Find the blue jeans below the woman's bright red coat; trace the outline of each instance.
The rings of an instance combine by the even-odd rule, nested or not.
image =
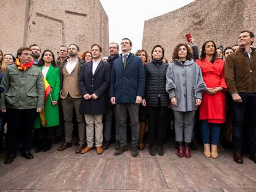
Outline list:
[[[210,131],[211,131],[211,144],[218,145],[220,138],[220,125],[218,123],[208,123],[207,120],[202,120],[201,132],[203,144],[209,144]]]

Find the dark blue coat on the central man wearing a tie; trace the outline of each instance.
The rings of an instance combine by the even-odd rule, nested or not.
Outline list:
[[[115,97],[116,103],[135,103],[136,96],[144,96],[145,69],[140,57],[130,53],[126,69],[121,57],[116,59],[111,70],[109,97]]]

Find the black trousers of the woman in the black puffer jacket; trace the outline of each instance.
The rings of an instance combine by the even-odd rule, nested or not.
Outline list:
[[[147,112],[149,145],[152,147],[156,138],[158,146],[163,146],[167,107],[147,107]]]

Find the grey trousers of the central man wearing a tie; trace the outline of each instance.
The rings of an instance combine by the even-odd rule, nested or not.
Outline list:
[[[130,115],[130,125],[132,128],[132,146],[138,146],[139,141],[139,104],[135,103],[124,103],[124,104],[116,104],[117,110],[117,118],[118,118],[118,132],[119,132],[119,143],[120,146],[126,146],[127,144],[127,110]]]

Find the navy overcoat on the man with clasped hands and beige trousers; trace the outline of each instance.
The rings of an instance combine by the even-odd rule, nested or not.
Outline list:
[[[79,75],[79,88],[82,94],[80,112],[83,114],[106,114],[108,110],[108,90],[110,83],[110,65],[100,61],[92,75],[92,61],[83,65]],[[95,93],[97,99],[85,99],[85,94]]]

